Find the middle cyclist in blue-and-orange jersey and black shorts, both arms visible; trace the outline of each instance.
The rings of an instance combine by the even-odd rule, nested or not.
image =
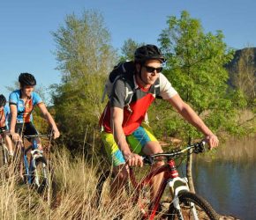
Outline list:
[[[10,134],[12,140],[19,142],[22,135],[38,135],[33,124],[32,111],[34,106],[39,107],[41,114],[49,122],[53,131],[53,137],[56,139],[60,136],[60,133],[54,119],[42,102],[41,97],[38,93],[34,92],[34,86],[36,85],[34,76],[30,73],[21,73],[19,75],[19,84],[20,89],[11,92],[9,97],[9,105],[11,108]],[[39,144],[39,148],[41,148],[40,139],[37,138],[36,141]]]

